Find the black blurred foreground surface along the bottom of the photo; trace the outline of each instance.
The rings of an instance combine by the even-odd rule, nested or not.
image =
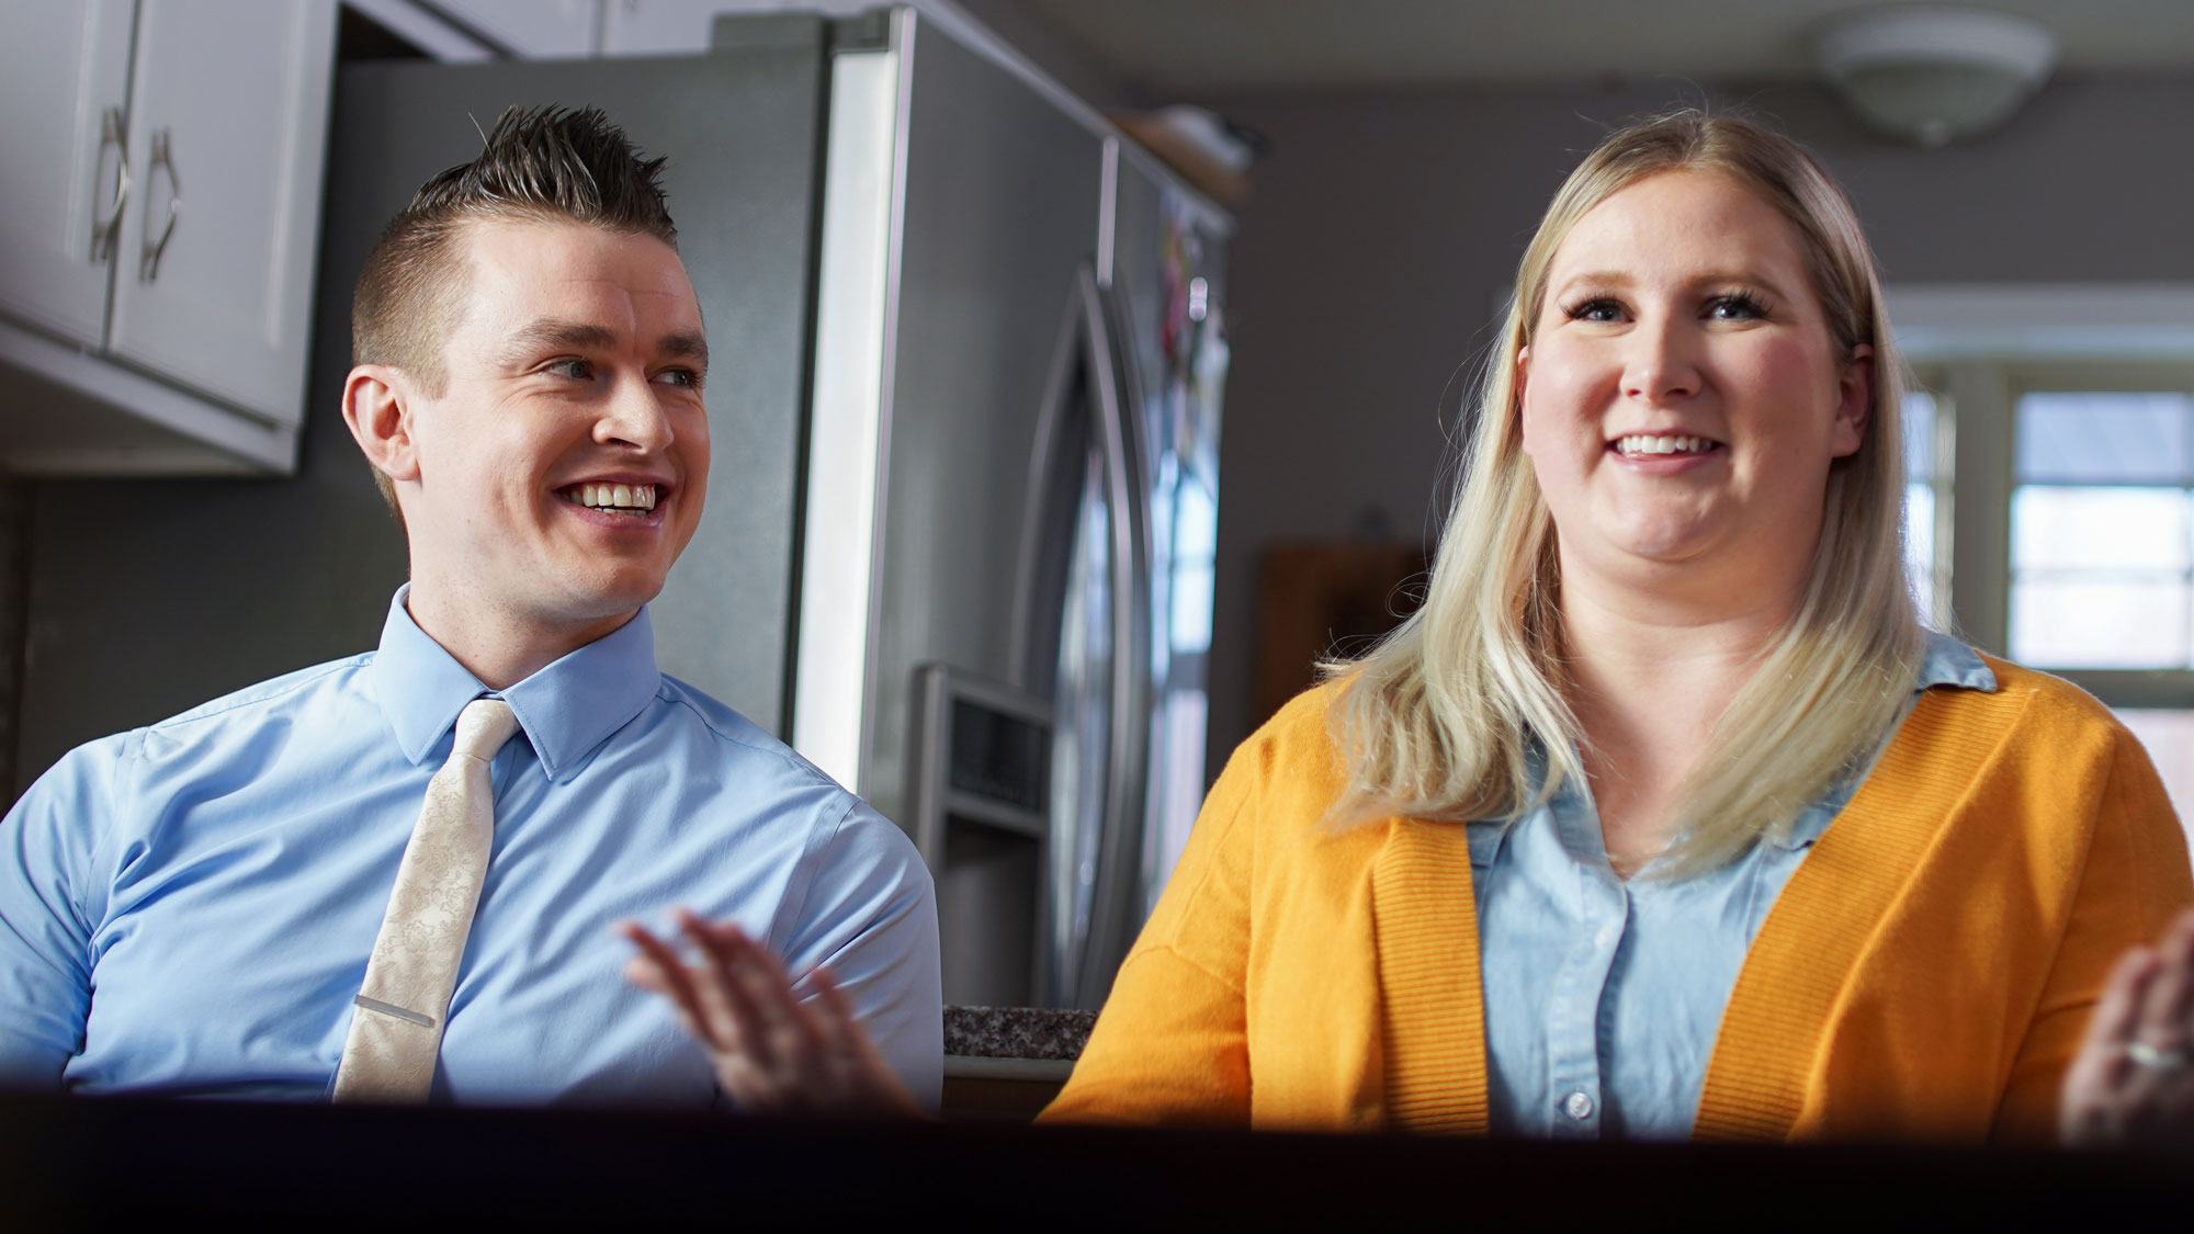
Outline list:
[[[2194,1225],[2194,1157],[0,1098],[0,1227]]]

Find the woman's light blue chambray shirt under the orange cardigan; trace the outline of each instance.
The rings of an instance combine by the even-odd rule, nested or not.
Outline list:
[[[1931,630],[1913,698],[1931,685],[1994,689],[1997,676]],[[1832,784],[1788,839],[1681,883],[1615,876],[1586,784],[1516,819],[1470,823],[1494,1131],[1687,1137],[1744,953],[1863,779]]]

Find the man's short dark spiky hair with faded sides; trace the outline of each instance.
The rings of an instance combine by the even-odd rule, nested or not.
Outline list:
[[[465,303],[461,233],[476,220],[577,222],[671,248],[663,160],[641,158],[597,108],[509,108],[480,156],[428,180],[384,231],[351,294],[351,362],[391,364],[441,391],[443,340]],[[395,490],[373,472],[395,509]]]

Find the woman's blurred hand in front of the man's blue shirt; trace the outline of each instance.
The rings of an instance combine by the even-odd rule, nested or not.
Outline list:
[[[827,971],[801,977],[814,990],[801,999],[783,964],[746,931],[685,909],[676,916],[693,960],[638,922],[619,922],[617,933],[638,949],[625,979],[671,1001],[742,1111],[924,1118]]]

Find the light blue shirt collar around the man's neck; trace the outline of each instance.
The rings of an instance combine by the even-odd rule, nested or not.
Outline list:
[[[511,705],[548,779],[568,779],[595,747],[647,707],[663,681],[654,626],[641,608],[632,621],[498,694],[410,619],[408,595],[404,584],[388,602],[373,696],[412,764],[426,762],[465,703],[491,694]]]

